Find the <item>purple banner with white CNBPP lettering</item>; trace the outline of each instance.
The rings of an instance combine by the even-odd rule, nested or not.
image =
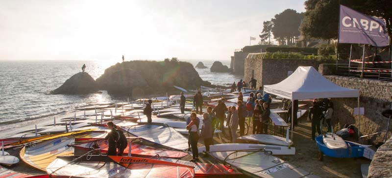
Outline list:
[[[384,20],[340,5],[339,43],[387,46],[389,37],[384,29]]]

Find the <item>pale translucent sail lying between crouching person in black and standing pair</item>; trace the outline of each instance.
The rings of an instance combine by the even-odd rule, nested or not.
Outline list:
[[[137,125],[130,127],[127,132],[168,148],[188,149],[188,139],[171,127],[152,124]]]

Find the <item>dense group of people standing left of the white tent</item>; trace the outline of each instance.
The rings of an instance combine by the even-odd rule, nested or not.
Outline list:
[[[254,87],[255,88],[255,87]],[[264,98],[265,97],[265,98]],[[181,93],[180,97],[180,108],[181,112],[185,107],[185,97]],[[198,91],[194,96],[193,104],[196,110],[191,111],[190,117],[187,118],[187,130],[189,132],[189,150],[192,150],[193,161],[198,159],[197,142],[200,137],[204,140],[206,151],[210,150],[210,145],[213,145],[213,137],[216,130],[220,130],[223,135],[228,136],[228,140],[231,143],[236,143],[238,137],[237,128],[240,127],[239,135],[242,136],[245,133],[245,122],[253,124],[253,134],[267,134],[268,125],[270,123],[270,102],[271,98],[269,94],[262,94],[259,92],[250,93],[249,98],[244,102],[243,92],[239,92],[237,107],[227,107],[225,99],[221,98],[218,100],[218,105],[213,107],[207,107],[207,112],[203,112],[201,107],[203,105],[203,99],[201,92]],[[227,117],[226,117],[227,112]],[[200,118],[197,117],[197,113],[202,114],[202,125],[200,125]],[[226,120],[226,127],[228,132],[224,129],[224,121]],[[201,132],[199,133],[199,129]]]

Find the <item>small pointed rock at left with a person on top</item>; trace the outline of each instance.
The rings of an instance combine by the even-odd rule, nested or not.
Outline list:
[[[52,94],[87,94],[98,91],[97,83],[86,72],[74,74],[59,88],[51,91]]]

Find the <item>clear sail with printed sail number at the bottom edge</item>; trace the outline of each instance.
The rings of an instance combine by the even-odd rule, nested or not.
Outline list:
[[[208,152],[209,155],[258,178],[319,178],[266,151]]]

